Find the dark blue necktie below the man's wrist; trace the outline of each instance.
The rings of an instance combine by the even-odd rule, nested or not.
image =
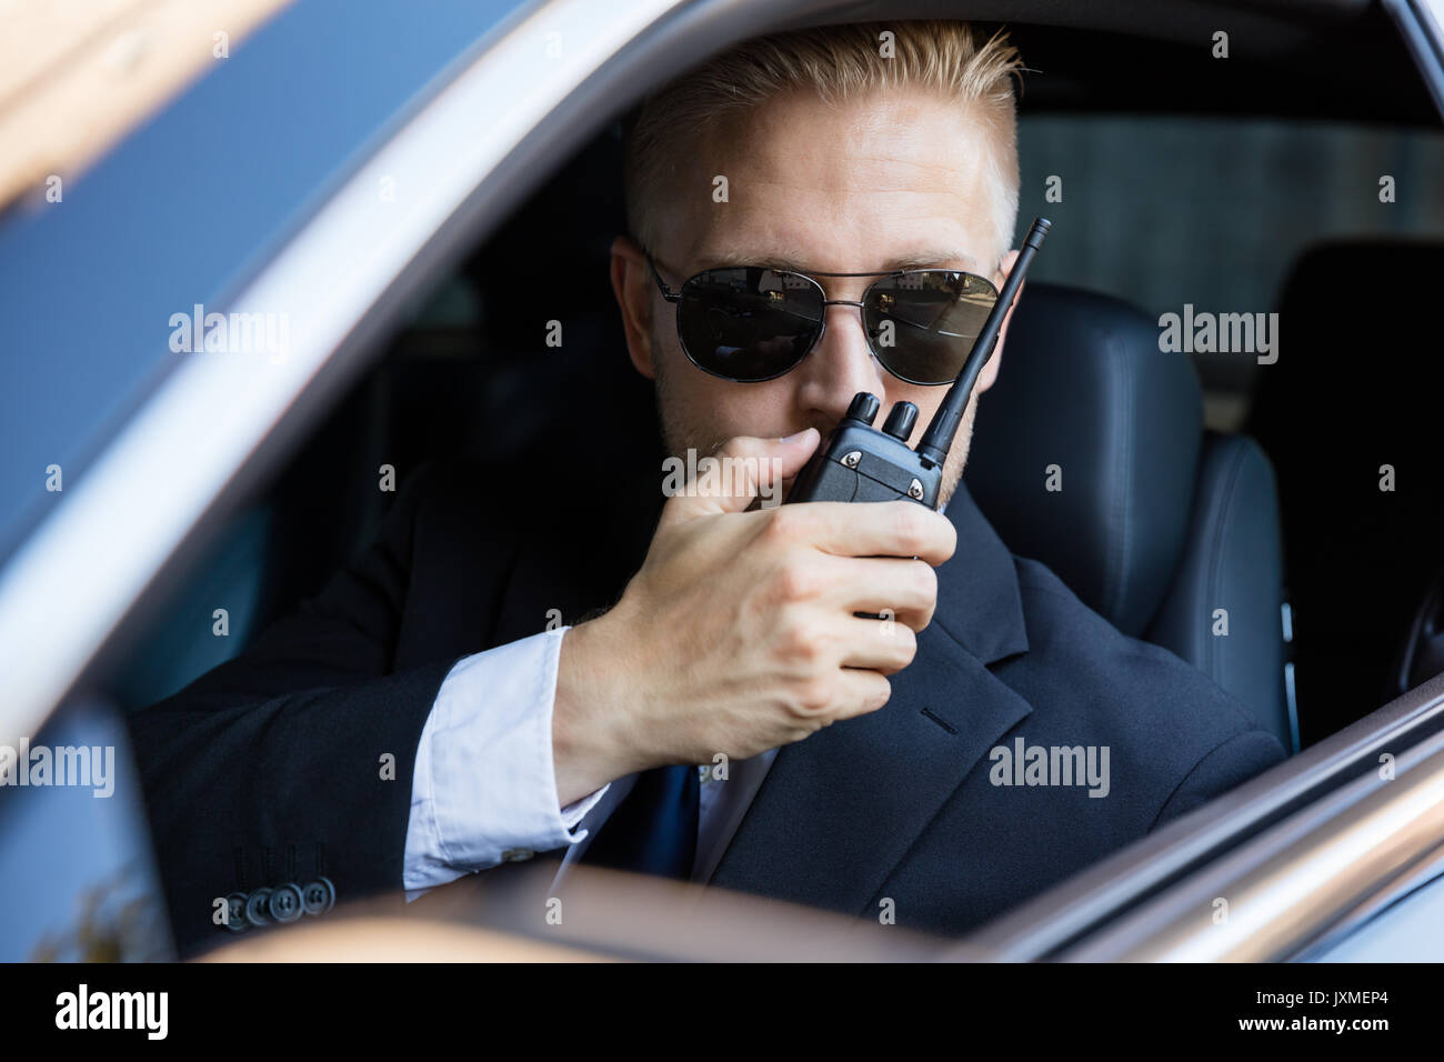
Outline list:
[[[689,880],[697,854],[700,802],[695,766],[644,770],[602,824],[582,863]]]

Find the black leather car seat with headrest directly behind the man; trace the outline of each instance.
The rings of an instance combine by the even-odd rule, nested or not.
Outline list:
[[[1274,471],[1203,428],[1197,374],[1118,299],[1024,288],[963,478],[1012,552],[1160,644],[1298,748]]]

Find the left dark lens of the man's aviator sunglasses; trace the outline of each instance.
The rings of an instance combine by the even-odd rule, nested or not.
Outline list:
[[[682,286],[677,331],[700,368],[739,383],[797,366],[822,332],[822,290],[775,269],[709,269]]]

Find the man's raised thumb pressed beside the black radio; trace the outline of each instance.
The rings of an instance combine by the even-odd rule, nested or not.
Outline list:
[[[671,497],[661,513],[661,523],[674,523],[713,513],[741,513],[754,500],[781,504],[783,480],[796,475],[820,435],[816,428],[784,439],[758,439],[738,435],[716,454],[697,458],[695,470],[683,470],[682,458],[667,458],[663,491]],[[686,471],[690,478],[683,480]]]

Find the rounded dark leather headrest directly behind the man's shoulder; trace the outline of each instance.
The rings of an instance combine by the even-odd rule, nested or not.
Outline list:
[[[1138,637],[1188,529],[1203,397],[1186,354],[1118,299],[1030,282],[963,480],[1008,548]]]

